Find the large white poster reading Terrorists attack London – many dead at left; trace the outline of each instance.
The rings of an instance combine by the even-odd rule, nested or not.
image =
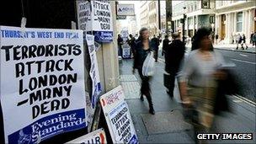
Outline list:
[[[0,26],[0,47],[6,143],[87,126],[82,30]]]

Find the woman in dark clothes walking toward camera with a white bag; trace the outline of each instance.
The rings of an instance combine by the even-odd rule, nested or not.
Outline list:
[[[149,81],[151,77],[146,77],[142,75],[142,67],[143,63],[147,57],[147,55],[152,51],[152,43],[149,40],[149,32],[147,28],[141,28],[140,30],[140,36],[138,41],[136,42],[136,53],[134,58],[134,64],[133,64],[133,70],[132,72],[135,72],[135,69],[138,70],[139,75],[141,77],[141,100],[143,101],[143,95],[146,96],[148,104],[149,104],[149,112],[154,115],[155,110],[153,108],[152,104],[152,96],[151,96],[151,90]]]

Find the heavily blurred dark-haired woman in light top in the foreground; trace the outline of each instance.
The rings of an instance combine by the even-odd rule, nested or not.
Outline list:
[[[213,50],[210,34],[209,29],[198,29],[195,50],[189,53],[179,78],[181,99],[184,108],[192,109],[189,122],[194,125],[195,132],[210,130],[214,118],[216,80],[225,77],[225,73],[218,69],[224,59],[221,53]]]

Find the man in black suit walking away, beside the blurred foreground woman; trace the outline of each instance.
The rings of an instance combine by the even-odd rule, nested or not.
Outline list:
[[[179,71],[179,65],[184,57],[185,45],[180,40],[178,33],[173,34],[173,41],[165,51],[165,71],[169,73],[169,86],[167,93],[173,97],[175,77]]]

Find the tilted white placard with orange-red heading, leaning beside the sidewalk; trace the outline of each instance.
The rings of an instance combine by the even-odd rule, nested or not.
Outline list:
[[[114,143],[138,143],[136,131],[131,120],[125,93],[121,86],[100,97],[109,132]]]

